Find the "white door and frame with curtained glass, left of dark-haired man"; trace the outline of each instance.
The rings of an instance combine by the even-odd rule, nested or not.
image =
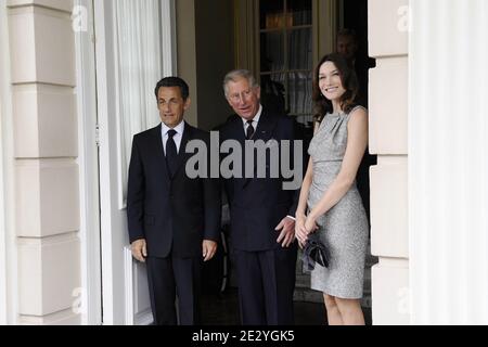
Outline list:
[[[125,196],[132,136],[159,123],[154,86],[172,74],[174,1],[81,4],[93,24],[77,47],[80,146],[87,159],[81,181],[90,190],[82,192],[85,323],[150,324],[145,268],[131,256]]]

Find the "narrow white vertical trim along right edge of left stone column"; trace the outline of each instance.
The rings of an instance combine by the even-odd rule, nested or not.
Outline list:
[[[81,323],[102,323],[102,265],[100,260],[99,168],[95,138],[97,86],[94,62],[93,2],[75,0],[87,9],[88,31],[75,33],[76,97],[78,115],[80,240],[81,240]]]

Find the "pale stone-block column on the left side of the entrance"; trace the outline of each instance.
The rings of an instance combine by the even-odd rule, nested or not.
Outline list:
[[[9,0],[18,323],[76,324],[75,37],[68,0]]]

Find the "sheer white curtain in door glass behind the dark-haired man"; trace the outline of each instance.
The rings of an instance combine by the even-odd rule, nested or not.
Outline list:
[[[159,124],[154,88],[162,78],[158,0],[114,1],[120,172],[124,205],[133,134]]]

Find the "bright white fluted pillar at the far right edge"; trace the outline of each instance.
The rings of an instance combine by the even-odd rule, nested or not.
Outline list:
[[[488,324],[488,1],[411,9],[411,322]]]

